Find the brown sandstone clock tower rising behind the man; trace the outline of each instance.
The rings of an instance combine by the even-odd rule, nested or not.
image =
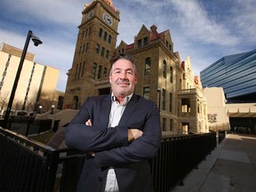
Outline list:
[[[78,109],[88,96],[110,92],[108,74],[116,51],[119,13],[112,0],[85,4],[63,109]]]

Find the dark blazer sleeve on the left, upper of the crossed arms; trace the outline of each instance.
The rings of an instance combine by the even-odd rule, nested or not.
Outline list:
[[[84,152],[108,150],[128,146],[127,129],[120,127],[100,127],[98,119],[100,116],[100,100],[87,98],[77,115],[68,124],[65,134],[65,142],[68,147],[77,148]],[[93,119],[92,126],[85,125],[88,119]],[[95,124],[95,125],[94,125]]]

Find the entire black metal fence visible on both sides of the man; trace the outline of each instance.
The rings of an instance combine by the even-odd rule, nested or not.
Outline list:
[[[216,133],[163,138],[149,163],[156,191],[182,184],[216,147]],[[0,128],[0,191],[75,191],[84,156],[54,149]]]

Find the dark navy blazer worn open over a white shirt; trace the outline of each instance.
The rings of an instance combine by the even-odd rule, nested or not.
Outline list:
[[[77,190],[103,191],[112,166],[120,192],[153,191],[148,159],[156,156],[161,139],[156,103],[133,94],[119,124],[108,128],[110,109],[111,95],[89,97],[67,127],[66,144],[86,152]],[[92,126],[85,125],[88,119]],[[129,128],[140,129],[142,137],[129,143]]]

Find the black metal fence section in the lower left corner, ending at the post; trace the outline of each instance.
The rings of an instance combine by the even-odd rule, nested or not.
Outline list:
[[[0,128],[0,191],[53,191],[59,154]]]

